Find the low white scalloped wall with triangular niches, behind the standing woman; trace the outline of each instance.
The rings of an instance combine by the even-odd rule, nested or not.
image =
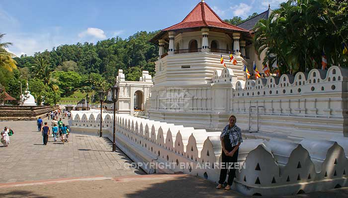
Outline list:
[[[73,133],[97,134],[93,113],[73,112]],[[111,140],[112,116],[105,115],[103,134]],[[171,163],[169,169],[142,167],[148,173],[180,171],[213,182],[219,179],[219,132],[116,115],[116,145],[135,162]],[[342,145],[342,146],[341,146]],[[335,141],[248,140],[241,144],[233,188],[245,195],[295,195],[348,186],[348,138]],[[181,163],[187,163],[187,166]],[[214,164],[215,163],[215,164]],[[175,166],[177,165],[177,166]]]

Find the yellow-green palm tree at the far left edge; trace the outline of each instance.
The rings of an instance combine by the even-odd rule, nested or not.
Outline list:
[[[5,34],[0,34],[0,41],[4,35]],[[0,43],[0,67],[3,67],[7,71],[12,71],[17,68],[17,62],[12,59],[15,55],[5,49],[10,45],[12,45],[12,43]]]

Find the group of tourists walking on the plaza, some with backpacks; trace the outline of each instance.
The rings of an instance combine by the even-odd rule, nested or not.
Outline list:
[[[44,126],[42,126],[42,123],[43,121],[41,117],[39,117],[39,119],[37,120],[38,131],[41,131],[41,135],[43,137],[43,144],[47,145],[48,137],[50,135],[51,129],[48,126],[47,122],[44,123]],[[63,123],[62,118],[60,118],[59,121],[57,121],[53,117],[51,122],[51,127],[52,127],[52,137],[54,138],[54,142],[57,142],[58,136],[60,137],[63,144],[65,142],[69,142],[68,141],[69,128]]]

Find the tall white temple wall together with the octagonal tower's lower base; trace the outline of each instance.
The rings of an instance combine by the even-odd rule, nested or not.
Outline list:
[[[155,84],[150,118],[220,130],[228,116],[235,114],[244,130],[291,132],[300,137],[308,134],[313,138],[329,139],[348,136],[347,77],[347,69],[337,66],[327,71],[313,69],[295,76],[271,76],[256,81],[237,81],[234,70],[216,70],[210,85],[170,87]],[[175,102],[168,97],[168,92],[187,93],[181,97],[187,108],[164,105]]]

